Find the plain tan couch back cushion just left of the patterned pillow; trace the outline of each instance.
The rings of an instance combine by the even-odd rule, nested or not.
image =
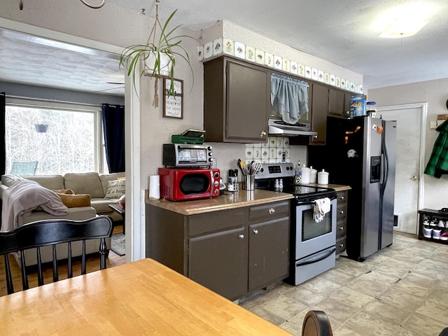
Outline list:
[[[104,191],[98,173],[67,173],[64,175],[65,189],[76,195],[89,194],[92,198],[104,198]]]

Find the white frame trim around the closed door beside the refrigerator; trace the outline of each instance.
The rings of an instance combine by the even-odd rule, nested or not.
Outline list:
[[[419,190],[417,195],[417,209],[423,208],[423,195],[424,195],[424,175],[425,170],[425,146],[426,146],[426,118],[428,115],[428,103],[413,103],[413,104],[400,104],[391,106],[381,106],[377,108],[377,113],[381,115],[381,111],[396,111],[406,109],[420,109],[420,153],[419,153]],[[400,125],[398,125],[400,127]],[[418,213],[417,213],[418,214]],[[418,221],[418,219],[417,219]],[[418,232],[418,222],[416,222],[416,232]]]

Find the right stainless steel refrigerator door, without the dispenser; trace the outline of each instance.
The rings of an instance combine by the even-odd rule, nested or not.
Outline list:
[[[381,241],[380,248],[385,248],[393,242],[393,203],[395,198],[395,158],[397,151],[397,122],[383,120],[384,125],[384,178],[381,188]]]

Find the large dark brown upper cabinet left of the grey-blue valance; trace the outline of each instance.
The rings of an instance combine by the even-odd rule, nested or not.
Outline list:
[[[204,140],[266,142],[268,87],[267,69],[226,57],[204,62]]]

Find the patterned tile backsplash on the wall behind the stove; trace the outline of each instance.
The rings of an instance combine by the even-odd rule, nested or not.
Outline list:
[[[290,162],[288,137],[269,137],[266,144],[246,144],[246,161],[261,163]]]

